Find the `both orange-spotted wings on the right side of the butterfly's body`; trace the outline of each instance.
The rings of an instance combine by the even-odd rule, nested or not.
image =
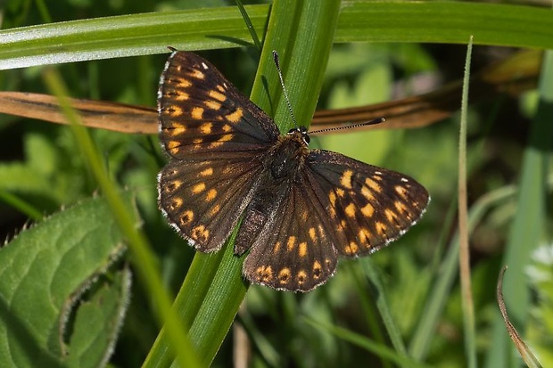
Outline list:
[[[334,274],[339,255],[372,253],[400,237],[428,200],[409,176],[311,150],[253,243],[243,274],[278,290],[312,290]]]

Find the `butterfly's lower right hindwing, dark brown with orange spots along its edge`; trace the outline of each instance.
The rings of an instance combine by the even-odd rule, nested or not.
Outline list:
[[[293,184],[271,214],[243,264],[250,282],[309,291],[334,274],[337,251],[332,229],[326,218],[313,211],[309,191],[303,183]]]

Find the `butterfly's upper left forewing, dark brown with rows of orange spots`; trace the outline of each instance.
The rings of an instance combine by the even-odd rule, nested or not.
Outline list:
[[[158,93],[161,143],[170,156],[237,156],[273,143],[278,130],[219,70],[194,53],[175,52]]]

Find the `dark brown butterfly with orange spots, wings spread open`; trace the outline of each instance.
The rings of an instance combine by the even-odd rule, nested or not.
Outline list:
[[[311,150],[305,127],[275,122],[210,62],[173,50],[158,92],[169,163],[158,203],[202,252],[221,249],[235,226],[243,276],[277,290],[326,282],[339,257],[396,240],[425,212],[425,187],[340,153]]]

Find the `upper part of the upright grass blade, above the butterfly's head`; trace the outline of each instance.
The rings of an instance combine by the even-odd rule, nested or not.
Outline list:
[[[269,34],[275,36],[266,40],[269,45],[266,45],[261,53],[260,70],[252,88],[253,101],[275,119],[281,132],[287,132],[292,128],[293,122],[276,75],[272,51],[276,50],[279,53],[295,119],[300,125],[309,125],[317,105],[328,54],[334,40],[333,25],[340,13],[340,2],[336,0],[329,1],[329,4],[316,1],[299,3],[288,2],[288,11],[271,13],[271,17],[278,17],[269,20]],[[307,12],[312,19],[294,20],[291,15],[292,9],[296,16]],[[327,22],[326,26],[322,24],[324,22]],[[263,78],[267,78],[267,86],[264,85]]]

